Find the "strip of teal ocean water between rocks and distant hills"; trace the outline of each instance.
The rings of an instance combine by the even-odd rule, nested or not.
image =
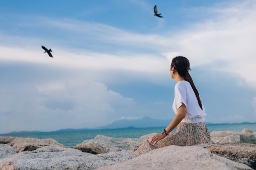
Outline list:
[[[212,131],[239,131],[244,128],[249,128],[256,132],[256,123],[254,124],[225,124],[225,125],[207,125],[209,132]],[[64,131],[64,132],[39,132],[39,133],[9,133],[0,134],[0,136],[14,137],[33,137],[38,139],[53,138],[65,146],[75,146],[82,143],[84,140],[92,139],[96,135],[105,135],[109,137],[128,137],[139,138],[149,133],[161,133],[165,127],[147,127],[147,128],[124,128],[124,129],[100,129],[100,130],[83,130],[83,131]],[[172,131],[175,132],[176,128]]]

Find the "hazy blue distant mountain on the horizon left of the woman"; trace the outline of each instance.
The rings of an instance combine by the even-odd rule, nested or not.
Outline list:
[[[139,127],[167,127],[172,120],[152,119],[143,117],[137,120],[116,120],[106,126],[96,127],[94,129],[118,129],[118,128],[139,128]]]

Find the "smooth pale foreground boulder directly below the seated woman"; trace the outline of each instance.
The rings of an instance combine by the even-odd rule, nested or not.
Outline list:
[[[105,169],[251,169],[249,166],[215,155],[198,146],[170,145],[154,149]]]

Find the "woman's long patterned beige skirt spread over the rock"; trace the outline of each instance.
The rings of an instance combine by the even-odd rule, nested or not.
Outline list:
[[[201,146],[206,147],[214,145],[211,141],[210,134],[205,122],[200,123],[184,123],[181,122],[177,126],[176,132],[170,132],[168,136],[159,140],[155,145],[150,144],[151,137],[147,138],[140,147],[133,152],[132,157],[145,154],[153,149],[177,145],[177,146]]]

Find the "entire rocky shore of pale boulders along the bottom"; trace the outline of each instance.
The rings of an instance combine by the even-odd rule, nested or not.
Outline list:
[[[0,169],[256,169],[256,133],[217,131],[217,145],[167,146],[132,158],[147,138],[97,135],[76,146],[54,139],[0,136]]]

